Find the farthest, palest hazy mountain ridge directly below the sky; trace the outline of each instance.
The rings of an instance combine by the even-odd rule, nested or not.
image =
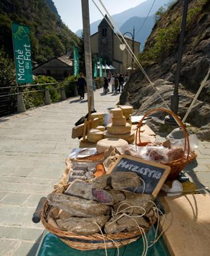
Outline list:
[[[158,11],[158,9],[161,6],[165,6],[171,3],[171,1],[172,0],[156,0],[153,8],[151,9],[151,13],[149,15],[153,15],[154,13],[156,13],[156,11]],[[127,21],[128,19],[134,16],[137,16],[137,17],[147,16],[153,2],[154,0],[146,0],[145,2],[139,4],[136,7],[123,11],[122,13],[114,14],[112,17],[116,22],[118,28],[120,28],[125,23],[125,21]],[[94,23],[91,23],[91,34],[98,32],[98,25],[100,22],[101,20],[94,21]],[[76,31],[76,34],[78,36],[81,36],[82,31],[83,31],[82,29],[79,29],[78,31]]]

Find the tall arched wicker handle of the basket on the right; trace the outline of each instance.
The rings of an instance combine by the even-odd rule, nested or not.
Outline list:
[[[181,126],[183,133],[184,133],[184,153],[183,153],[183,158],[185,153],[187,153],[187,158],[189,157],[189,136],[186,130],[186,127],[183,123],[183,121],[181,121],[181,119],[179,118],[178,115],[176,115],[175,113],[173,113],[173,111],[171,110],[166,110],[165,108],[155,108],[154,110],[149,110],[144,116],[143,118],[139,121],[139,125],[138,128],[136,130],[136,145],[137,145],[137,138],[139,136],[139,143],[141,143],[141,126],[143,125],[143,121],[144,119],[149,116],[151,113],[156,112],[156,111],[162,111],[162,112],[166,112],[169,115],[173,116],[173,118],[177,121],[177,123],[179,124],[179,126]],[[187,150],[187,151],[186,151]]]

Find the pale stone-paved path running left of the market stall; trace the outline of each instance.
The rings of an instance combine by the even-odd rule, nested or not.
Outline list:
[[[100,96],[95,108],[108,112],[119,95]],[[31,221],[37,202],[53,190],[65,168],[64,160],[78,139],[71,130],[88,113],[86,100],[70,98],[0,119],[0,255],[32,256],[43,231]]]

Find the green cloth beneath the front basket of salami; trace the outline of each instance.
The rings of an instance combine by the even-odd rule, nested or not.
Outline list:
[[[155,229],[154,227],[147,233],[148,241],[154,240]],[[143,240],[139,238],[138,241],[129,245],[119,248],[119,256],[134,256],[141,255],[143,252]],[[38,256],[104,256],[104,250],[76,250],[65,243],[61,242],[58,237],[51,233],[47,233],[42,240]],[[117,249],[109,249],[108,256],[117,256]],[[148,248],[147,256],[170,256],[168,249],[161,238],[155,245]]]

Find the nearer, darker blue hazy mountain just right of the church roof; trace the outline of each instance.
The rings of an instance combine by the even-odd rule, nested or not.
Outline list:
[[[145,23],[144,20],[145,17],[132,17],[131,19],[128,19],[128,21],[126,21],[120,28],[121,33],[126,33],[130,31],[132,33],[133,28],[135,28],[135,40],[141,43],[141,51],[144,49],[144,43],[146,42],[146,39],[148,38],[149,34],[153,29],[154,16],[149,16],[148,19],[146,19]],[[141,28],[143,23],[144,26]],[[139,29],[141,30],[139,31]]]

